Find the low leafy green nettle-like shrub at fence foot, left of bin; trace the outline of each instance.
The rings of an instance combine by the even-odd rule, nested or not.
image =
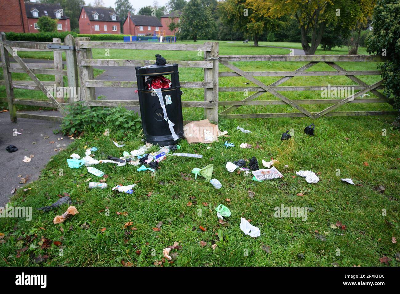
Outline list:
[[[89,107],[76,103],[67,108],[68,114],[61,124],[63,134],[100,132],[109,130],[116,140],[135,136],[142,129],[138,115],[124,107]]]

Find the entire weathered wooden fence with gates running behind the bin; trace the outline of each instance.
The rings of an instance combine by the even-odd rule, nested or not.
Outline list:
[[[95,80],[93,66],[145,66],[153,64],[154,60],[123,60],[123,59],[95,59],[92,56],[92,49],[130,49],[130,50],[179,50],[179,51],[197,51],[203,52],[204,60],[184,61],[168,60],[168,63],[177,63],[181,68],[202,68],[204,70],[203,81],[182,81],[182,88],[203,88],[204,101],[182,101],[182,107],[200,107],[204,108],[205,117],[212,122],[218,122],[218,117],[224,118],[275,118],[275,117],[310,117],[319,118],[321,116],[359,116],[359,115],[379,115],[396,114],[396,111],[352,111],[337,112],[333,111],[346,103],[389,103],[393,104],[392,99],[386,98],[378,90],[382,90],[382,80],[374,84],[367,84],[356,76],[380,75],[379,70],[347,71],[335,62],[382,62],[382,56],[371,55],[219,55],[218,42],[205,42],[201,45],[192,44],[151,44],[151,43],[122,43],[122,42],[94,42],[89,38],[73,38],[68,35],[65,42],[60,39],[53,39],[52,43],[47,42],[20,42],[7,41],[5,34],[1,34],[0,53],[2,58],[2,69],[4,81],[0,85],[6,88],[6,95],[12,121],[16,118],[39,118],[48,120],[62,120],[65,116],[64,107],[68,104],[76,103],[74,97],[69,101],[56,99],[47,90],[47,87],[56,85],[64,87],[63,76],[67,76],[68,87],[80,86],[80,100],[89,106],[139,106],[135,100],[106,100],[96,99],[94,94],[95,87],[113,87],[113,88],[137,88],[136,81],[107,81]],[[48,68],[47,63],[26,63],[19,56],[19,51],[53,51],[54,67]],[[66,55],[66,70],[63,69],[62,52]],[[10,54],[16,61],[10,63]],[[266,72],[245,72],[232,62],[238,61],[276,61],[276,62],[308,62],[294,71],[266,71]],[[335,69],[335,71],[307,71],[310,67],[324,62]],[[219,64],[223,64],[232,72],[219,72]],[[28,74],[30,81],[13,81],[13,72],[23,72]],[[54,82],[42,82],[36,74],[54,75]],[[281,77],[271,84],[265,84],[256,79],[257,76],[276,76]],[[354,87],[357,90],[353,95],[339,99],[307,99],[291,100],[281,94],[282,91],[321,91],[323,86],[280,86],[282,83],[295,76],[347,76],[358,85],[346,85],[336,87]],[[243,77],[255,86],[247,87],[220,87],[219,77]],[[44,92],[49,101],[24,100],[14,98],[14,88],[29,90],[40,90]],[[254,92],[243,100],[221,101],[219,92],[238,92],[246,89],[248,92]],[[376,98],[359,98],[367,92],[372,93]],[[262,94],[270,93],[278,100],[256,100]],[[1,100],[5,100],[4,98]],[[49,116],[28,114],[26,112],[17,112],[15,104],[46,106],[56,108],[61,116]],[[231,114],[241,106],[254,105],[290,105],[298,112],[290,113],[254,113],[254,114]],[[332,104],[331,106],[319,112],[310,112],[302,105],[304,104]],[[224,108],[222,111],[220,111]]]

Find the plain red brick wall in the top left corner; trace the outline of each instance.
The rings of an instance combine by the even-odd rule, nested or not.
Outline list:
[[[24,0],[0,1],[0,32],[28,32]]]

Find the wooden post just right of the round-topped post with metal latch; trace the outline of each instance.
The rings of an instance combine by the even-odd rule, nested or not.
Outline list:
[[[79,83],[80,83],[80,99],[87,102],[89,100],[94,100],[94,88],[86,87],[85,82],[87,80],[94,80],[93,67],[83,66],[82,60],[92,58],[92,49],[81,49],[80,42],[90,41],[90,38],[76,38],[75,48],[76,48],[76,60],[78,62],[78,73],[79,73]]]

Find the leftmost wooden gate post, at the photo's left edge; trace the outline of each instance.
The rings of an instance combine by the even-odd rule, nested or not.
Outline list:
[[[0,55],[2,59],[2,68],[4,76],[4,86],[6,87],[6,95],[8,100],[8,112],[10,112],[10,119],[12,122],[17,121],[16,107],[14,104],[14,88],[12,87],[11,72],[8,71],[10,66],[10,58],[8,57],[8,51],[4,48],[3,41],[6,40],[6,34],[4,32],[0,33]]]

